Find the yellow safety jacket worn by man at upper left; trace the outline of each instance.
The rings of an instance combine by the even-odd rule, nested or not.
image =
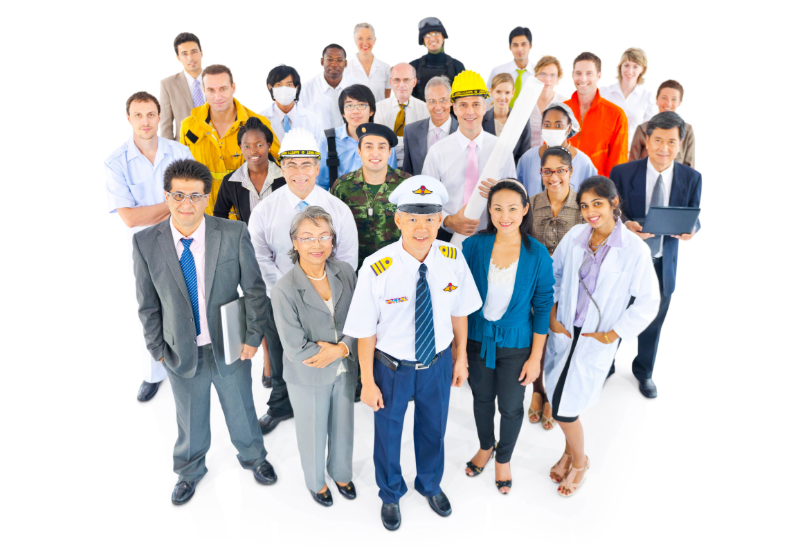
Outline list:
[[[209,216],[214,214],[214,203],[217,202],[222,178],[244,164],[244,157],[237,140],[239,127],[244,126],[247,119],[254,116],[272,130],[269,120],[251,111],[239,103],[236,98],[233,99],[233,105],[236,108],[236,122],[221,138],[216,129],[211,126],[208,103],[192,109],[192,113],[181,123],[180,142],[189,148],[194,160],[205,164],[211,170],[211,177],[214,178],[206,208],[206,214]],[[272,147],[269,149],[273,159],[278,159],[280,148],[281,144],[273,133]]]

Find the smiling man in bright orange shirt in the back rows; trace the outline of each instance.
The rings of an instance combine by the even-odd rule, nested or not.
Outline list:
[[[601,176],[628,162],[628,117],[625,111],[600,97],[600,58],[583,52],[572,63],[576,92],[564,103],[580,116],[581,129],[569,143],[586,153]]]

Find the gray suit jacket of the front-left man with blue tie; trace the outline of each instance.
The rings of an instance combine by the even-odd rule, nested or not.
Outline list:
[[[267,287],[261,278],[247,226],[213,216],[206,219],[206,320],[220,374],[228,376],[250,361],[225,364],[220,307],[244,292],[245,343],[258,347],[267,319]],[[133,236],[133,269],[139,319],[153,359],[184,378],[197,369],[197,332],[186,280],[172,240],[171,218]]]

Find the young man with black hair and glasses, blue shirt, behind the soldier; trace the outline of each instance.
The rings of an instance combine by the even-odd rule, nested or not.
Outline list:
[[[345,88],[339,96],[339,110],[345,123],[335,129],[325,130],[325,138],[320,144],[324,163],[317,177],[317,185],[329,190],[337,179],[361,168],[358,154],[356,130],[362,124],[373,122],[375,115],[375,96],[363,84],[353,84]],[[389,166],[397,168],[397,153],[392,148]]]

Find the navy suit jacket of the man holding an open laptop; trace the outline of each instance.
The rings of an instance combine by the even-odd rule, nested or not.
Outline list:
[[[625,219],[643,219],[647,203],[647,158],[618,164],[611,169],[611,179],[617,186],[622,201],[622,215]],[[685,164],[674,164],[672,189],[669,194],[669,206],[700,207],[700,193],[703,190],[703,178],[700,172]],[[700,221],[697,222],[700,230]],[[664,236],[662,252],[662,268],[664,278],[664,295],[675,291],[675,278],[678,270],[678,243],[673,237]]]

